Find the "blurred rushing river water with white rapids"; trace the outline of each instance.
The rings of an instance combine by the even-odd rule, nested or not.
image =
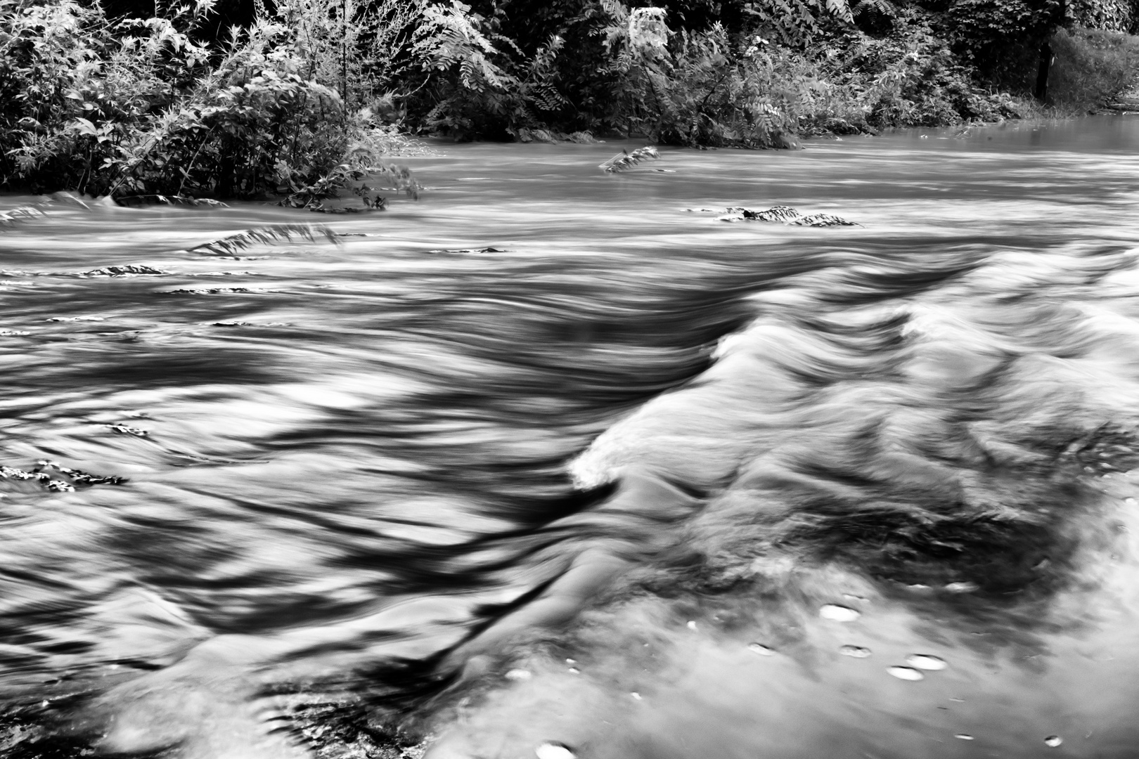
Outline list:
[[[1137,124],[0,230],[0,754],[1139,756]]]

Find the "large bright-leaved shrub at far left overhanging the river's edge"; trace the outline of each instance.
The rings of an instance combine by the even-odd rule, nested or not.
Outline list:
[[[330,42],[326,22],[344,19],[302,22],[305,2],[281,0],[274,16],[210,50],[192,33],[213,0],[117,22],[74,0],[0,0],[0,91],[9,96],[0,105],[0,184],[249,198],[295,192],[346,159],[362,167],[391,133],[372,109],[345,107],[345,94],[359,102],[374,91],[349,85],[344,51]],[[387,26],[372,20],[353,44],[364,46],[360,30],[367,44],[410,35],[399,13]],[[374,69],[384,75],[393,65],[357,63],[388,66]]]

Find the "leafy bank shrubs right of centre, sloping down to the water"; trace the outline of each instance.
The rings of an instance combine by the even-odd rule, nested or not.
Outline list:
[[[628,39],[645,41],[625,43],[616,56],[623,76],[615,118],[662,142],[781,147],[795,133],[1015,115],[1009,98],[973,84],[927,14],[888,11],[890,33],[880,38],[844,24],[820,28],[810,44],[792,46],[762,35],[734,41],[713,25],[681,31],[671,48],[662,17],[649,34],[634,31],[630,14]]]

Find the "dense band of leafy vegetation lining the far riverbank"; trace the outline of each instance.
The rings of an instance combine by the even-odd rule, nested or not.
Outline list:
[[[0,187],[304,205],[376,168],[413,190],[384,163],[409,132],[780,147],[997,119],[1017,115],[1013,96],[1032,90],[1066,13],[1062,0],[253,0],[226,18],[214,0],[108,1],[0,0]],[[1121,1],[1071,14],[1130,28]]]

